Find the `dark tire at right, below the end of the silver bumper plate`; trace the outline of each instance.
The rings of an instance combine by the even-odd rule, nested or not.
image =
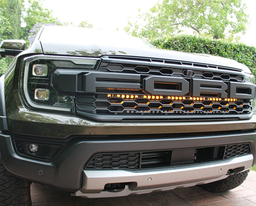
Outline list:
[[[199,185],[204,190],[210,192],[226,192],[234,189],[241,185],[246,177],[248,176],[250,170],[243,171],[242,173],[238,173],[235,175],[228,176],[226,179],[221,179],[220,181]]]

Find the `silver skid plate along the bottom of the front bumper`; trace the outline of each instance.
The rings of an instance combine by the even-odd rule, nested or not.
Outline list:
[[[183,166],[168,169],[142,171],[127,170],[84,170],[83,187],[74,196],[86,198],[107,198],[109,196],[127,196],[152,191],[171,190],[176,187],[206,184],[227,177],[229,169],[250,168],[252,155],[233,158],[221,162]],[[127,181],[129,181],[127,183]],[[121,192],[103,191],[106,184],[126,183]]]

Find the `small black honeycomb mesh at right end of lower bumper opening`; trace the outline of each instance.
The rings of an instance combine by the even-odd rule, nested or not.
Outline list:
[[[250,153],[251,153],[250,144],[227,145],[224,159],[247,155]]]

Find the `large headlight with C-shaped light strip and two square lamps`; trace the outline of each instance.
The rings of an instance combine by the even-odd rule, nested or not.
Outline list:
[[[61,57],[36,55],[23,59],[21,78],[21,95],[28,106],[33,109],[50,109],[59,111],[74,111],[73,95],[59,93],[51,82],[52,72],[65,70],[94,70],[100,62],[99,58]],[[69,82],[66,82],[67,84]],[[72,85],[71,87],[74,87]]]

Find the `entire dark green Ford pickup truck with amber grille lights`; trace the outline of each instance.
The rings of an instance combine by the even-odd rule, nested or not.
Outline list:
[[[0,78],[0,197],[30,183],[106,198],[199,185],[223,192],[255,164],[255,79],[234,60],[123,34],[43,27]]]

